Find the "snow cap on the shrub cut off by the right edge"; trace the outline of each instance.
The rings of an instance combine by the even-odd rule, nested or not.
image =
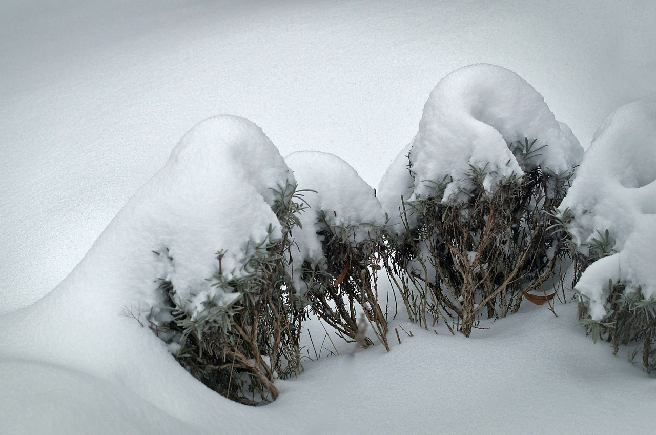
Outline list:
[[[560,210],[569,208],[569,231],[579,249],[608,230],[613,255],[592,263],[577,290],[590,298],[590,314],[605,314],[608,280],[625,291],[642,287],[656,296],[656,102],[625,104],[599,126]]]

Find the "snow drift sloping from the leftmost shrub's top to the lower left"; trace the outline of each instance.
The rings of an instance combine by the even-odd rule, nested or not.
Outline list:
[[[146,316],[162,302],[159,279],[171,281],[189,309],[209,298],[234,300],[230,289],[206,281],[218,268],[215,252],[226,250],[222,266],[228,274],[247,258],[249,240],[253,246],[276,237],[269,228],[279,227],[272,189],[288,181],[291,171],[255,124],[218,116],[192,128],[60,285],[33,306],[0,318],[0,363],[33,364],[3,373],[18,373],[24,386],[16,397],[39,397],[30,406],[48,410],[33,427],[53,415],[77,414],[71,407],[98,417],[82,420],[92,421],[89,433],[113,432],[102,426],[106,411],[123,413],[129,433],[152,432],[138,416],[155,418],[160,410],[172,423],[165,433],[199,433],[195,426],[216,427],[222,420],[226,432],[243,426],[234,417],[239,405],[189,375],[150,331]],[[56,385],[41,382],[51,374],[72,385],[72,392],[51,394]],[[15,384],[0,376],[0,387]],[[96,396],[89,393],[94,385],[102,386]],[[126,393],[112,399],[122,389]],[[0,420],[9,419],[5,409],[14,407],[5,400],[18,400],[14,396],[0,398]],[[61,403],[50,403],[53,397]],[[236,414],[227,418],[230,413]]]

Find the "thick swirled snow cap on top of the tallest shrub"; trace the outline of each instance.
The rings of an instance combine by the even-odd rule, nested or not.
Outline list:
[[[535,149],[548,145],[531,162],[550,172],[571,171],[583,154],[569,127],[556,121],[542,95],[514,72],[489,64],[455,70],[430,93],[409,162],[403,150],[380,181],[381,202],[396,216],[401,195],[405,200],[429,196],[434,183],[445,178],[453,181],[443,198],[463,200],[472,166],[485,167],[484,185],[494,189],[503,177],[532,169],[508,147],[525,138],[537,139]],[[414,185],[408,184],[413,178],[408,164]]]

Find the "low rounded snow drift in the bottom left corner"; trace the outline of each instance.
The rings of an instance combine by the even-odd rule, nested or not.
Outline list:
[[[23,359],[4,359],[0,369],[12,373],[0,380],[5,434],[203,433],[120,381]]]

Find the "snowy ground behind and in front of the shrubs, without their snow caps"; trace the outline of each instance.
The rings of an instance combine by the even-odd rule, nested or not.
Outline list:
[[[652,1],[5,1],[0,313],[58,285],[204,118],[249,118],[283,156],[333,152],[377,185],[438,80],[489,62],[586,147],[617,106],[656,98],[655,20]],[[402,323],[414,336],[389,354],[336,342],[342,356],[324,351],[249,408],[105,300],[61,295],[0,317],[0,432],[653,432],[653,378],[592,344],[573,304],[524,307],[469,340]]]

